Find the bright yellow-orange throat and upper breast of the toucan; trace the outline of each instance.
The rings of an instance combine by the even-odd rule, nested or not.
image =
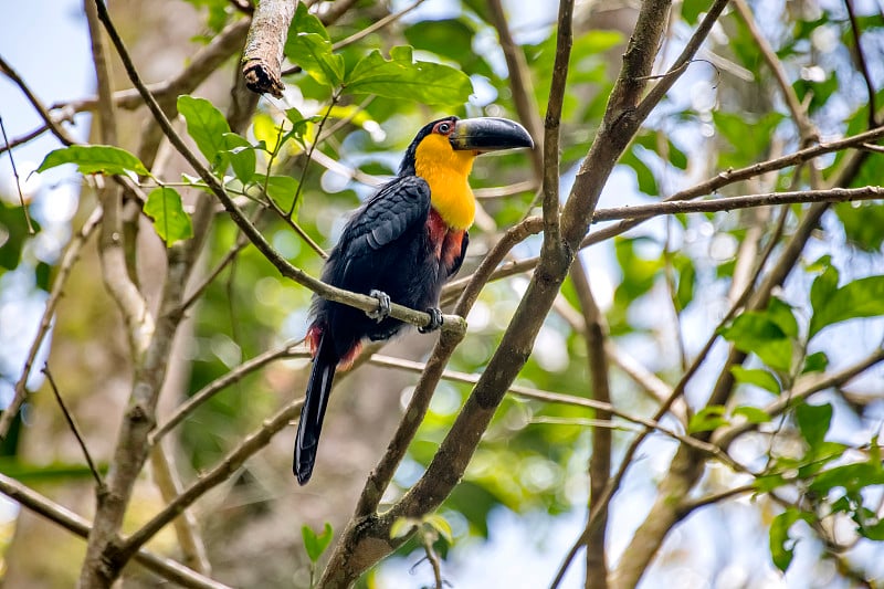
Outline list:
[[[433,209],[449,228],[465,230],[476,215],[476,200],[467,178],[473,151],[452,149],[444,135],[430,134],[414,152],[414,171],[430,185]]]

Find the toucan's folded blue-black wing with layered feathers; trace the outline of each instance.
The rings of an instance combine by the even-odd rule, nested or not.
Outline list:
[[[360,257],[380,250],[415,225],[427,222],[430,213],[430,186],[418,176],[394,178],[383,185],[359,211],[340,238],[345,259]]]

